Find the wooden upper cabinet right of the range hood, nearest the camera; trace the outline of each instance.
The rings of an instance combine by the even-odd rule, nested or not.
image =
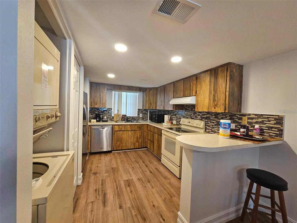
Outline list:
[[[196,111],[241,112],[242,66],[228,64],[197,76]]]

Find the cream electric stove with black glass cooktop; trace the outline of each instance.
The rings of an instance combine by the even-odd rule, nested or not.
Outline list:
[[[161,162],[174,175],[181,178],[182,147],[176,144],[176,136],[189,134],[206,134],[205,121],[182,118],[181,126],[168,127],[162,130]]]

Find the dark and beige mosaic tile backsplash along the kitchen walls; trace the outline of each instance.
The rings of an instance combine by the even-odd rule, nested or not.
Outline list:
[[[95,119],[95,114],[102,113],[107,110],[108,120],[113,121],[112,109],[111,108],[90,108],[89,117],[90,119]],[[260,125],[261,134],[283,137],[284,128],[284,115],[269,115],[269,114],[250,114],[250,113],[219,113],[219,112],[196,112],[195,105],[185,105],[184,110],[172,111],[172,110],[154,110],[150,113],[168,114],[170,115],[170,121],[176,120],[179,123],[181,118],[191,118],[200,119],[206,122],[205,131],[208,133],[218,133],[219,123],[221,119],[231,120],[231,123],[235,124],[235,128],[239,130],[242,117],[247,116],[247,125],[249,126],[249,131],[252,132],[255,125]],[[140,118],[140,114],[142,117]],[[128,117],[131,120],[147,120],[148,109],[138,109],[137,117]]]

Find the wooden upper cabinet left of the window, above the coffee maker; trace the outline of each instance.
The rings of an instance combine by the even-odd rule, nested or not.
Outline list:
[[[106,108],[106,84],[90,84],[90,107]]]

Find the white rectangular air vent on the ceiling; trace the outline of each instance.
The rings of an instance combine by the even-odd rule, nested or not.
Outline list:
[[[157,2],[153,13],[184,24],[200,7],[201,5],[189,0],[162,0]]]

